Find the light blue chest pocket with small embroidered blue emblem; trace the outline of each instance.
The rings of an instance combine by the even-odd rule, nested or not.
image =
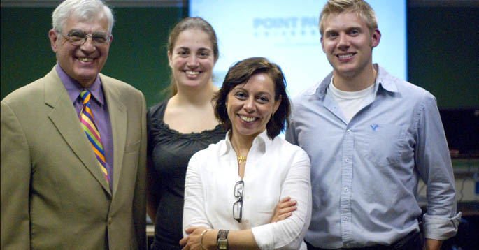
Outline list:
[[[406,144],[406,125],[370,124],[366,128],[364,156],[376,166],[391,166],[401,161]]]

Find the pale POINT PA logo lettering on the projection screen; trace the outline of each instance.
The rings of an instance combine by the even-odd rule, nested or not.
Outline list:
[[[319,17],[254,17],[252,37],[275,45],[319,45]]]

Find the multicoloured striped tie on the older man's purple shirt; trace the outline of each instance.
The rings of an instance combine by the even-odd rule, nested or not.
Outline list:
[[[98,159],[101,172],[103,172],[103,175],[105,175],[106,178],[106,182],[108,182],[108,171],[106,170],[103,145],[101,144],[100,133],[96,128],[95,120],[93,119],[92,109],[90,108],[90,97],[92,97],[92,93],[85,89],[80,93],[80,97],[83,99],[83,108],[80,111],[80,123],[82,124],[83,130],[87,134],[87,138],[92,145],[93,152],[96,155],[96,159]]]

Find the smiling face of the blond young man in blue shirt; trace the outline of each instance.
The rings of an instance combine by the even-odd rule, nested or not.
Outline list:
[[[324,20],[322,50],[335,76],[353,78],[372,68],[372,49],[380,41],[380,32],[371,31],[357,13],[331,13]]]

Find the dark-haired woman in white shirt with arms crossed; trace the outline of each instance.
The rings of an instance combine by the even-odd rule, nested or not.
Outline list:
[[[260,57],[239,61],[213,100],[229,131],[188,164],[183,249],[306,249],[310,161],[277,136],[290,112],[280,67]],[[285,197],[296,200],[296,210],[271,223]]]

